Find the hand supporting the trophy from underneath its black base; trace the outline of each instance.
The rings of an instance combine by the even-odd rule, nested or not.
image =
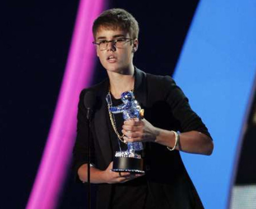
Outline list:
[[[108,184],[115,183],[124,183],[130,181],[134,178],[143,176],[144,174],[131,174],[129,172],[114,172],[111,169],[113,168],[113,161],[109,164],[107,169],[104,171],[104,180]]]

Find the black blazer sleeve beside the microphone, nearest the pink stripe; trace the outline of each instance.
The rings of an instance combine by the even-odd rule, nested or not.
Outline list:
[[[88,146],[88,120],[86,118],[86,108],[84,106],[84,95],[86,90],[82,90],[79,96],[76,141],[73,148],[72,167],[75,172],[75,180],[78,181],[78,169],[81,165],[88,162],[87,146]],[[91,134],[91,133],[90,133]],[[91,158],[94,159],[94,146],[91,142]]]

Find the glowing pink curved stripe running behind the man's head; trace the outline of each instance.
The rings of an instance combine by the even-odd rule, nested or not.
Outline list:
[[[103,0],[80,0],[57,107],[27,209],[57,206],[76,135],[79,93],[93,75],[96,53],[91,28],[102,10]]]

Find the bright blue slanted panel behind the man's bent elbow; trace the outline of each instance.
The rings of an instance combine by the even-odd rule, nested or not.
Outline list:
[[[225,208],[256,69],[256,1],[201,0],[174,79],[214,139],[214,153],[182,154],[207,209]]]

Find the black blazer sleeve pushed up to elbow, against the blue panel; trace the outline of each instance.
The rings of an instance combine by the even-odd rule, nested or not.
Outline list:
[[[172,110],[172,114],[180,123],[180,131],[199,131],[211,138],[207,127],[202,119],[191,109],[188,98],[180,87],[176,85],[170,76],[163,77],[163,83],[167,87],[165,91],[165,100]]]

